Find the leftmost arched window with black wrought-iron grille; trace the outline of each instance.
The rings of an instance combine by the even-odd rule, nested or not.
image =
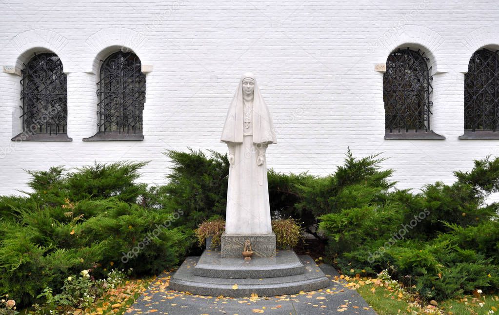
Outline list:
[[[22,132],[12,140],[71,140],[67,137],[67,84],[52,52],[35,54],[22,69]]]

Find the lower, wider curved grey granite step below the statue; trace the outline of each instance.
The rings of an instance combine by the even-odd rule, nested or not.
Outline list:
[[[243,297],[295,294],[327,287],[329,280],[308,255],[299,256],[305,267],[302,274],[271,278],[219,278],[194,274],[199,257],[187,257],[170,279],[170,289],[210,296]],[[237,284],[237,285],[235,285]]]

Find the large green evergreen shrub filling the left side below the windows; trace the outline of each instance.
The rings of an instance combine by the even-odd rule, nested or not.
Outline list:
[[[192,230],[178,224],[181,209],[135,203],[149,193],[133,182],[142,165],[30,172],[32,193],[1,200],[14,215],[0,220],[0,294],[29,305],[43,288],[58,294],[68,275],[94,265],[103,276],[111,266],[157,274],[179,264]]]

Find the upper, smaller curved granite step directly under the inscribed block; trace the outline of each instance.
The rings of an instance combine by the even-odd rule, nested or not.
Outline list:
[[[275,257],[222,258],[220,250],[205,250],[193,274],[213,278],[273,278],[305,272],[293,250],[278,250]]]

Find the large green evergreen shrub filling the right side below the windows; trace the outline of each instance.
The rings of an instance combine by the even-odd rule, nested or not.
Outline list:
[[[377,169],[379,161],[371,167]],[[347,181],[334,179],[342,174],[368,177],[355,172],[353,164],[350,158],[343,166],[347,169],[319,180],[303,197],[329,212],[319,216],[319,227],[328,239],[327,257],[345,273],[386,268],[423,298],[499,288],[498,204],[485,204],[498,191],[498,158],[476,161],[471,171],[455,172],[453,184],[437,182],[420,193],[388,192],[382,180],[373,180],[373,186],[352,179],[333,187]]]

